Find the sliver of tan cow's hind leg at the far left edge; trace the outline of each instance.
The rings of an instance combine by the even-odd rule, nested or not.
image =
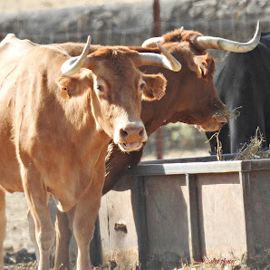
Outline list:
[[[0,188],[0,270],[4,270],[5,227],[5,191]]]

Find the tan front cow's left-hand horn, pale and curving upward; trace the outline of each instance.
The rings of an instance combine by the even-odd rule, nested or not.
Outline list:
[[[91,36],[89,35],[87,38],[87,43],[83,48],[82,54],[80,56],[72,57],[63,63],[61,67],[61,72],[63,72],[64,75],[72,75],[80,71],[89,53],[90,44],[91,44]]]

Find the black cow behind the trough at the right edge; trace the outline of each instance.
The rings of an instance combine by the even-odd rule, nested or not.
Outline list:
[[[270,33],[262,34],[256,49],[249,53],[227,53],[217,67],[214,83],[228,110],[240,116],[231,119],[219,133],[223,153],[237,153],[259,127],[264,142],[270,143]],[[207,132],[207,138],[213,133]],[[217,142],[210,141],[215,152]]]

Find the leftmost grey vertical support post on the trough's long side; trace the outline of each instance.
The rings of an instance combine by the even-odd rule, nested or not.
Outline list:
[[[135,182],[135,207],[134,220],[138,236],[139,269],[147,269],[149,255],[149,241],[147,229],[147,213],[145,201],[144,177],[134,177]]]

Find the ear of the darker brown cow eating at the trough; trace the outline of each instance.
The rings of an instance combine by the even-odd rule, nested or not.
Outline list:
[[[208,53],[194,56],[193,61],[197,66],[196,72],[198,74],[198,78],[202,78],[208,81],[209,78],[213,77],[213,73],[215,71],[215,63]]]

